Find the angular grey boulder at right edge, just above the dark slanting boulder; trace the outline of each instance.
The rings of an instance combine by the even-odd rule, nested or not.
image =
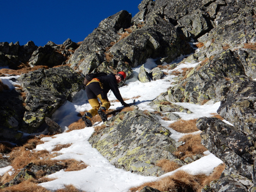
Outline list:
[[[217,110],[219,115],[247,135],[256,133],[256,81],[234,77],[226,87]]]

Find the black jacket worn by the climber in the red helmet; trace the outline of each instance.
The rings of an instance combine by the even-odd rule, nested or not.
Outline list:
[[[97,77],[97,79],[100,79],[100,82],[103,84],[103,91],[104,93],[108,93],[108,91],[111,89],[111,91],[114,93],[116,99],[118,99],[122,105],[124,105],[124,99],[122,98],[119,89],[118,89],[118,83],[116,82],[116,75],[111,73],[110,75],[104,75],[101,77]]]

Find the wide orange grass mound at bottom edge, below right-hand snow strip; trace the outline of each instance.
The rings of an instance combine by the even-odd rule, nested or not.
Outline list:
[[[193,176],[183,170],[179,170],[173,175],[164,177],[161,180],[146,182],[141,186],[130,188],[130,191],[140,191],[144,186],[150,186],[160,191],[174,191],[175,189],[178,189],[177,191],[195,192],[200,188],[200,183],[196,176]]]

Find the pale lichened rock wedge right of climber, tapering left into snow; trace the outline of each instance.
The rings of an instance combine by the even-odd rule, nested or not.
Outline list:
[[[164,96],[170,102],[217,102],[220,101],[227,80],[238,75],[245,75],[245,72],[242,63],[237,59],[237,54],[230,50],[224,51],[203,66],[199,65],[192,69],[185,79],[169,88],[161,97]]]

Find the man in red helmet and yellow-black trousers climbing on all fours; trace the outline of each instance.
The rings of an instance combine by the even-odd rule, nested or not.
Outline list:
[[[124,102],[124,99],[122,98],[118,89],[118,83],[123,81],[125,78],[126,78],[126,73],[124,73],[123,71],[120,71],[116,75],[111,73],[110,75],[100,76],[92,79],[89,83],[87,83],[86,95],[92,107],[92,109],[86,112],[85,115],[83,115],[82,117],[87,127],[92,126],[91,118],[97,115],[97,113],[100,115],[103,122],[108,120],[104,112],[108,110],[108,108],[110,107],[110,102],[108,101],[108,96],[107,96],[108,91],[110,89],[114,93],[116,99],[118,99],[120,103],[124,105],[124,107],[129,106],[129,104]],[[102,103],[101,106],[97,97],[100,99]]]

